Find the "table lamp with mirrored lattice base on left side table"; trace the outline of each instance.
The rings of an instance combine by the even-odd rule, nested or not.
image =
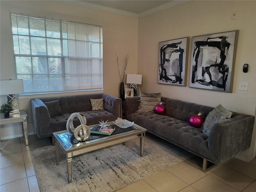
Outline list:
[[[19,93],[24,93],[23,79],[0,80],[0,95],[7,96],[7,102],[13,106],[12,114],[20,113]]]

